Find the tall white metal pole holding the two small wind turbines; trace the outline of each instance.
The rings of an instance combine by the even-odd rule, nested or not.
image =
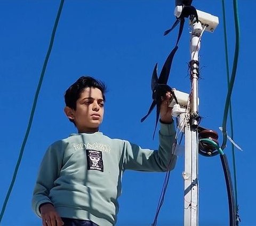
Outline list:
[[[200,38],[203,31],[201,22],[192,25],[190,39],[190,80],[191,93],[189,114],[185,125],[185,171],[183,172],[184,185],[184,225],[198,225],[198,52]]]

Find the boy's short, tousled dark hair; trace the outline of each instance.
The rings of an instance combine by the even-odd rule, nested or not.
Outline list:
[[[97,80],[91,76],[82,76],[66,90],[64,95],[66,106],[76,110],[76,101],[80,98],[81,93],[87,87],[98,88],[102,93],[103,100],[105,101],[106,85],[101,82],[101,80]]]

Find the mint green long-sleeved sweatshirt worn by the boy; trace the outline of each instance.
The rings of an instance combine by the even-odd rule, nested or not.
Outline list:
[[[61,217],[91,220],[100,226],[116,224],[117,198],[125,170],[164,172],[171,160],[174,125],[162,124],[158,150],[142,149],[101,132],[71,134],[46,151],[36,181],[32,206],[52,203]]]

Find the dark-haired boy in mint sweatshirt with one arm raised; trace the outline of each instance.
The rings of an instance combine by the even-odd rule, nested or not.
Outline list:
[[[44,226],[115,225],[125,170],[164,172],[175,166],[171,94],[163,97],[154,151],[99,132],[105,90],[99,80],[83,76],[65,93],[65,114],[78,133],[53,143],[42,160],[32,205]]]

